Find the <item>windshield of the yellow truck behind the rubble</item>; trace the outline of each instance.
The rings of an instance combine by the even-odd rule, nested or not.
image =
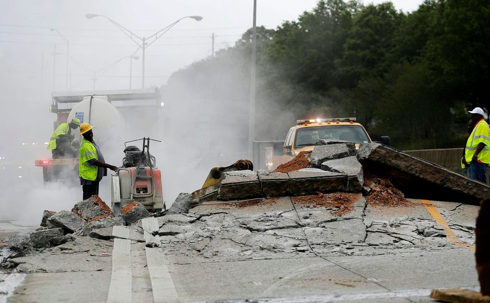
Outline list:
[[[359,125],[325,125],[298,129],[295,149],[315,145],[318,139],[344,140],[354,143],[370,142],[366,132]]]

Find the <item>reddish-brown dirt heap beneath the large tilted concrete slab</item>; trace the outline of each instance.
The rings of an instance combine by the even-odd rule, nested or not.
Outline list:
[[[365,198],[372,206],[414,206],[414,203],[405,199],[405,195],[389,180],[370,176],[365,178],[364,186],[370,188]]]

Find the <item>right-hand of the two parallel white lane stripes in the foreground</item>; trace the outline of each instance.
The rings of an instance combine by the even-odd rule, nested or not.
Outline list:
[[[154,217],[142,220],[144,240],[146,243],[153,238],[152,234],[158,231],[158,221]],[[180,302],[179,294],[175,288],[174,280],[168,271],[165,257],[160,248],[145,247],[146,264],[150,273],[150,280],[153,289],[153,301],[159,302]]]

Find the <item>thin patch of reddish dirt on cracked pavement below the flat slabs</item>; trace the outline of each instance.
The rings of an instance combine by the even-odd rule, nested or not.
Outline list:
[[[337,216],[350,213],[358,199],[358,194],[347,192],[292,197],[293,202],[296,203],[310,204],[314,207],[322,208],[337,208],[338,210],[333,212]]]

